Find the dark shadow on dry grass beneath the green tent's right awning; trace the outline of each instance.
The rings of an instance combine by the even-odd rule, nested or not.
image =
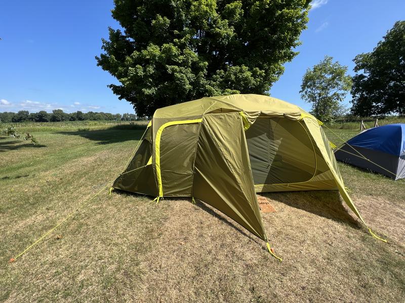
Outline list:
[[[269,192],[263,193],[263,196],[326,219],[344,222],[357,229],[361,228],[354,213],[350,213],[351,211],[343,206],[345,202],[337,190]]]

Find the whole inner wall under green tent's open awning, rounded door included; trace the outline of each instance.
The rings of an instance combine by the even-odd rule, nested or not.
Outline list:
[[[257,192],[337,189],[302,121],[259,117],[246,137]]]

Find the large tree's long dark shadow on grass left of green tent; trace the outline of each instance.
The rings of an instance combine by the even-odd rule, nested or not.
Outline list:
[[[141,139],[146,127],[142,128],[122,128],[123,125],[111,127],[103,130],[79,130],[79,131],[58,131],[55,134],[62,134],[68,136],[80,136],[92,141],[98,141],[97,144],[111,144],[118,142],[125,142],[130,140]]]

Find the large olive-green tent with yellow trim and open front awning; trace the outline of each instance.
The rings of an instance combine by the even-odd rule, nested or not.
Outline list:
[[[156,197],[194,197],[267,241],[256,192],[339,190],[322,123],[264,95],[206,97],[158,109],[113,187]]]

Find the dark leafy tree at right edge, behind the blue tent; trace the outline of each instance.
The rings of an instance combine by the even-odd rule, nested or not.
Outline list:
[[[373,52],[354,58],[352,113],[405,115],[405,21],[398,21]]]

